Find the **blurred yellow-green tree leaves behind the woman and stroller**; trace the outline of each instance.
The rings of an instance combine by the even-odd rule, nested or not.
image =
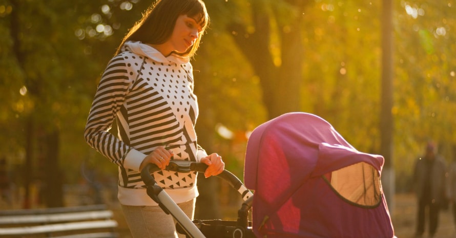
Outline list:
[[[2,151],[15,154],[24,146],[15,132],[33,114],[42,125],[59,128],[62,140],[70,140],[61,143],[61,156],[71,158],[65,163],[94,157],[82,129],[96,85],[121,38],[150,3],[1,2],[0,99],[5,106],[0,126],[5,133],[0,137],[9,141],[0,145]],[[407,172],[410,160],[421,153],[421,142],[432,138],[444,148],[456,143],[456,134],[450,133],[456,129],[456,6],[448,1],[395,4],[393,146],[395,166]],[[204,133],[215,134],[217,123],[240,134],[250,131],[268,119],[271,104],[265,98],[296,96],[299,111],[327,119],[355,147],[378,153],[381,2],[228,0],[206,1],[206,6],[211,25],[192,61],[198,126]],[[261,8],[253,11],[255,6]],[[294,31],[300,33],[296,40],[288,34]],[[248,47],[240,48],[233,36],[250,39]],[[255,51],[260,44],[264,52]],[[266,58],[272,64],[252,63]],[[280,72],[266,82],[273,93],[263,84],[271,68]],[[298,82],[291,84],[289,73]],[[27,93],[21,95],[21,89]],[[209,143],[216,147],[226,143],[213,138]]]

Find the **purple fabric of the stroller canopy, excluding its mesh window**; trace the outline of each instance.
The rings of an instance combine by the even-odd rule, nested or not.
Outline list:
[[[288,113],[267,121],[247,142],[244,183],[255,190],[257,237],[393,237],[385,199],[374,208],[347,203],[323,179],[365,162],[381,172],[384,159],[358,152],[322,118]],[[265,219],[267,217],[267,219]]]

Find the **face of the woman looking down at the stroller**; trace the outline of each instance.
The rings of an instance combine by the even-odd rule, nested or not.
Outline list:
[[[166,52],[185,52],[195,43],[201,31],[201,26],[194,18],[180,15],[177,17],[171,37],[163,44],[168,48]]]

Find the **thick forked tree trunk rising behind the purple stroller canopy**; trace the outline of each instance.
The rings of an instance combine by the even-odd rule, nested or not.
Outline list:
[[[254,33],[248,33],[246,27],[240,24],[232,24],[229,31],[234,32],[232,35],[236,45],[260,78],[263,103],[268,118],[272,119],[301,109],[303,49],[299,27],[301,18],[293,18],[286,26],[286,30],[283,25],[278,24],[282,40],[281,65],[275,65],[270,52],[272,16],[265,8],[262,1],[252,2]]]

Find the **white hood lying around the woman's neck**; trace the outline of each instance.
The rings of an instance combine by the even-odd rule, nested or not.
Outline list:
[[[124,50],[131,51],[138,55],[147,56],[160,63],[173,62],[177,64],[186,64],[190,62],[189,57],[180,56],[175,53],[165,57],[158,50],[149,45],[143,44],[141,41],[127,41],[123,44],[123,46],[125,47]]]

